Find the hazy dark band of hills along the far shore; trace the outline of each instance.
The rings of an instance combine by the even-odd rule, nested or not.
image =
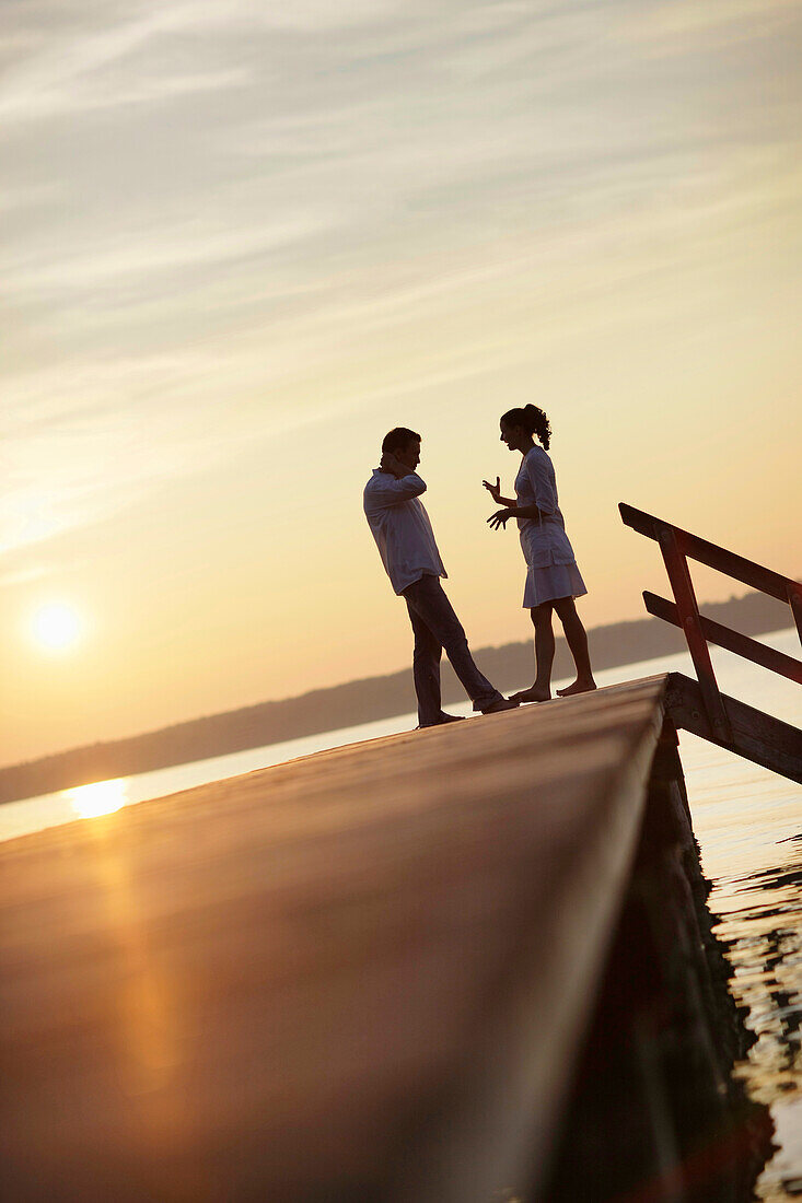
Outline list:
[[[782,630],[790,623],[786,606],[761,593],[748,593],[730,602],[703,605],[702,612],[715,622],[757,635]],[[594,666],[672,656],[685,648],[679,630],[657,618],[595,627],[589,632]],[[483,672],[502,691],[519,687],[532,675],[532,644],[483,647],[476,653]],[[568,676],[571,657],[564,639],[556,641],[555,677]],[[464,700],[464,692],[450,665],[443,663],[443,701]],[[305,735],[318,735],[334,727],[355,727],[379,718],[393,718],[414,710],[411,669],[385,676],[350,681],[347,685],[314,689],[297,698],[265,701],[255,706],[195,718],[123,740],[94,743],[0,769],[0,804],[52,794],[110,777],[128,777],[154,769],[228,755],[254,747],[267,747]],[[336,716],[336,721],[332,721]]]

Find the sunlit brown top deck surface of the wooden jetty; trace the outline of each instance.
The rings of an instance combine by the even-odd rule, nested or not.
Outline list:
[[[664,676],[0,848],[14,1199],[486,1203],[542,1165]]]

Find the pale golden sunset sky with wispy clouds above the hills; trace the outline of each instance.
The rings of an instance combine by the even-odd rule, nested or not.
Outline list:
[[[474,647],[531,630],[529,401],[589,627],[667,588],[619,500],[802,575],[801,12],[4,5],[0,764],[407,664],[395,425]]]

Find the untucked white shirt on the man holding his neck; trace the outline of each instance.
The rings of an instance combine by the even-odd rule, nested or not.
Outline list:
[[[414,472],[396,480],[376,468],[365,485],[365,516],[396,593],[426,574],[448,576],[419,500],[425,492],[425,482]]]

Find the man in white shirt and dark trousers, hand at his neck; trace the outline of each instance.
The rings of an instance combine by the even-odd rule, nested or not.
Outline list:
[[[441,709],[440,660],[443,648],[452,668],[483,715],[514,710],[479,672],[465,632],[440,583],[447,576],[435,534],[423,503],[426,486],[415,468],[420,462],[420,435],[397,426],[382,443],[382,463],[365,486],[365,516],[373,532],[393,588],[407,603],[414,632],[412,662],[418,722],[438,727],[459,719]]]

